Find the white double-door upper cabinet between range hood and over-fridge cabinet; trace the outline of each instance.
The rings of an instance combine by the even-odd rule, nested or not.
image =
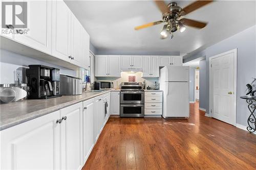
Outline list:
[[[159,77],[159,56],[143,57],[143,77]]]

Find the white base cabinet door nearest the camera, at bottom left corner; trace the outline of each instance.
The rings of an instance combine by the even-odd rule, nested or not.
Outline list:
[[[1,169],[60,169],[59,111],[1,131]]]

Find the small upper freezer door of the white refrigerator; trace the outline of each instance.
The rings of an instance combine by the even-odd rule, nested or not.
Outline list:
[[[167,66],[165,81],[189,81],[188,66]]]

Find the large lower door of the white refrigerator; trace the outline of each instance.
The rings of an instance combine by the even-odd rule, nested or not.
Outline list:
[[[189,83],[166,82],[163,117],[189,117]]]

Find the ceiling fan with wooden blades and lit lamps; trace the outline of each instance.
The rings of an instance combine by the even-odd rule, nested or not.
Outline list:
[[[135,27],[135,30],[144,29],[147,27],[155,26],[165,22],[163,29],[160,33],[160,39],[165,39],[170,34],[170,38],[173,38],[173,33],[178,29],[180,32],[185,31],[185,26],[202,29],[207,25],[207,22],[201,22],[193,19],[180,18],[190,12],[193,12],[213,1],[196,1],[185,8],[177,6],[177,3],[172,2],[166,5],[164,1],[155,0],[156,5],[162,12],[162,20],[156,22],[146,23],[145,25]],[[185,25],[185,26],[184,26]]]

